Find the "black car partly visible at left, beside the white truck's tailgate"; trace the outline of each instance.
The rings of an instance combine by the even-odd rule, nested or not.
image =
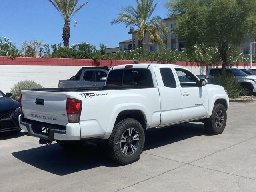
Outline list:
[[[20,104],[10,96],[11,93],[5,95],[0,91],[0,132],[21,130],[18,121]]]

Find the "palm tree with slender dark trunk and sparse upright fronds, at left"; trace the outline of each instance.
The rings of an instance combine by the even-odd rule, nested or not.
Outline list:
[[[64,19],[64,27],[62,28],[62,39],[65,47],[69,46],[70,38],[70,19],[76,14],[83,6],[88,2],[76,7],[78,0],[48,0],[58,10],[62,18]]]

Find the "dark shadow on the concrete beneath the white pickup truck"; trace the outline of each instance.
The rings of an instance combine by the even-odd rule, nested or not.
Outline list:
[[[207,135],[204,125],[193,123],[160,130],[150,130],[146,132],[144,150],[158,148],[200,135]],[[85,144],[78,150],[68,151],[54,143],[48,146],[14,152],[12,155],[36,168],[60,176],[99,166],[120,166],[107,158],[104,145],[94,147]]]

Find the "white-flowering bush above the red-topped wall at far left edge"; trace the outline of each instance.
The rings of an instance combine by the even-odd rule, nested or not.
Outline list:
[[[0,56],[14,58],[20,56],[20,51],[16,48],[15,43],[4,36],[0,36]]]

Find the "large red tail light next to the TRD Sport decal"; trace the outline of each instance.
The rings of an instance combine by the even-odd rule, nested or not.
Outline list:
[[[82,111],[82,101],[74,98],[67,98],[68,122],[78,123]]]

